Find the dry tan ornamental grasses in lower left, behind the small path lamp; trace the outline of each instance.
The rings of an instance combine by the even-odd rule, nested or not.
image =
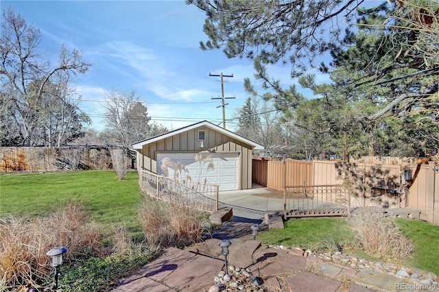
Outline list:
[[[38,287],[49,277],[46,253],[52,247],[67,247],[67,259],[97,252],[99,228],[84,218],[84,208],[71,205],[46,217],[0,219],[0,287]]]

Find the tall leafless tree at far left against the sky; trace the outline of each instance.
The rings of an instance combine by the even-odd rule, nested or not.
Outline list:
[[[87,121],[83,114],[78,114],[78,108],[68,104],[66,93],[60,95],[54,90],[58,86],[68,88],[71,77],[78,73],[85,73],[91,66],[82,60],[80,51],[73,49],[69,51],[62,45],[58,63],[52,66],[50,62],[43,59],[43,54],[38,53],[40,43],[40,31],[33,25],[27,25],[26,21],[16,15],[12,9],[3,10],[0,41],[0,84],[2,96],[10,98],[8,109],[9,116],[4,121],[12,123],[15,127],[10,136],[18,136],[21,145],[36,145],[40,143],[40,133],[44,131],[47,110],[45,100],[47,95],[56,97],[57,102],[64,102],[69,110],[63,111],[70,114],[69,119],[77,123]],[[69,89],[70,90],[70,89]],[[69,92],[71,95],[72,92]],[[61,99],[61,101],[60,101]],[[63,117],[61,121],[66,121]],[[58,144],[67,137],[65,131],[69,126],[63,127],[58,134]],[[2,129],[3,130],[3,129]],[[8,130],[8,129],[6,129]],[[62,138],[60,138],[62,137]]]

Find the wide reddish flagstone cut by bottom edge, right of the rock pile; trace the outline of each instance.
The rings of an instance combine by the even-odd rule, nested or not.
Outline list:
[[[287,283],[291,292],[335,292],[342,284],[307,272],[299,273],[296,277],[287,278]]]

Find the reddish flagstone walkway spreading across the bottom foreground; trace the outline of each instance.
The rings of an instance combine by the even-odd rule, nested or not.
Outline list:
[[[221,239],[229,239],[232,243],[228,265],[248,269],[259,282],[257,289],[243,291],[366,292],[436,289],[431,285],[427,287],[411,282],[409,278],[397,278],[366,269],[357,271],[348,265],[337,265],[312,254],[307,256],[305,253],[304,256],[302,250],[261,245],[259,241],[253,240],[250,226],[252,223],[226,222],[224,228],[212,234],[212,239],[185,250],[170,247],[160,258],[121,280],[112,291],[207,292],[215,284],[215,276],[224,267],[224,256],[218,246]],[[264,226],[262,230],[265,228],[268,227]]]

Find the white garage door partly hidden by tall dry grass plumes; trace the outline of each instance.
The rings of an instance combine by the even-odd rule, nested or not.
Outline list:
[[[194,153],[157,154],[157,173],[163,174],[161,169],[163,158],[169,157],[173,162],[185,165],[185,168],[189,171],[191,180],[195,182],[204,182],[204,179],[206,179],[209,184],[217,184],[219,191],[237,190],[239,169],[238,154],[202,154],[202,158],[206,158],[209,155],[213,156],[213,169],[207,170],[207,165],[200,165],[200,162],[195,162]],[[169,176],[173,175],[173,171],[169,169]]]

